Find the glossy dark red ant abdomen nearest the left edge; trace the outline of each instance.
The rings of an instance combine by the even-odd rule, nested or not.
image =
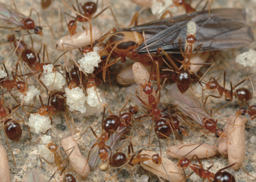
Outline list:
[[[14,119],[8,119],[4,122],[5,133],[12,141],[18,142],[21,139],[22,129],[21,125]]]

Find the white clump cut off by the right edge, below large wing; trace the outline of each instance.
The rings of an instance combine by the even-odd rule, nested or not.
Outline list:
[[[237,63],[240,63],[241,65],[244,65],[244,67],[247,67],[247,66],[255,67],[256,66],[256,51],[250,49],[248,52],[244,52],[241,55],[238,55],[238,57],[236,57],[235,61]]]

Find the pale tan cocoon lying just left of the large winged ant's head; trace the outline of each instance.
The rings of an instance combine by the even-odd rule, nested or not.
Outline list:
[[[98,27],[92,26],[92,42],[99,39],[101,35],[102,35],[101,30]],[[65,45],[65,44],[71,44],[74,46]],[[86,34],[86,30],[84,30],[84,31],[79,31],[75,33],[75,35],[73,35],[72,37],[68,33],[68,35],[61,37],[59,40],[55,42],[55,49],[66,51],[66,50],[75,49],[76,48],[75,46],[82,48],[88,45],[90,45],[90,29],[87,30],[87,34]]]

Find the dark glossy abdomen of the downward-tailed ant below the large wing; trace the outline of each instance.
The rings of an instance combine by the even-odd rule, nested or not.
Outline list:
[[[181,93],[190,88],[191,76],[187,70],[181,70],[177,76],[177,87]]]

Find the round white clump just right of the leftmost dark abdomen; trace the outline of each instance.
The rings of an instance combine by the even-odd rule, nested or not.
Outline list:
[[[39,134],[45,133],[51,128],[51,120],[47,116],[41,116],[39,114],[30,114],[29,127],[32,132]]]

